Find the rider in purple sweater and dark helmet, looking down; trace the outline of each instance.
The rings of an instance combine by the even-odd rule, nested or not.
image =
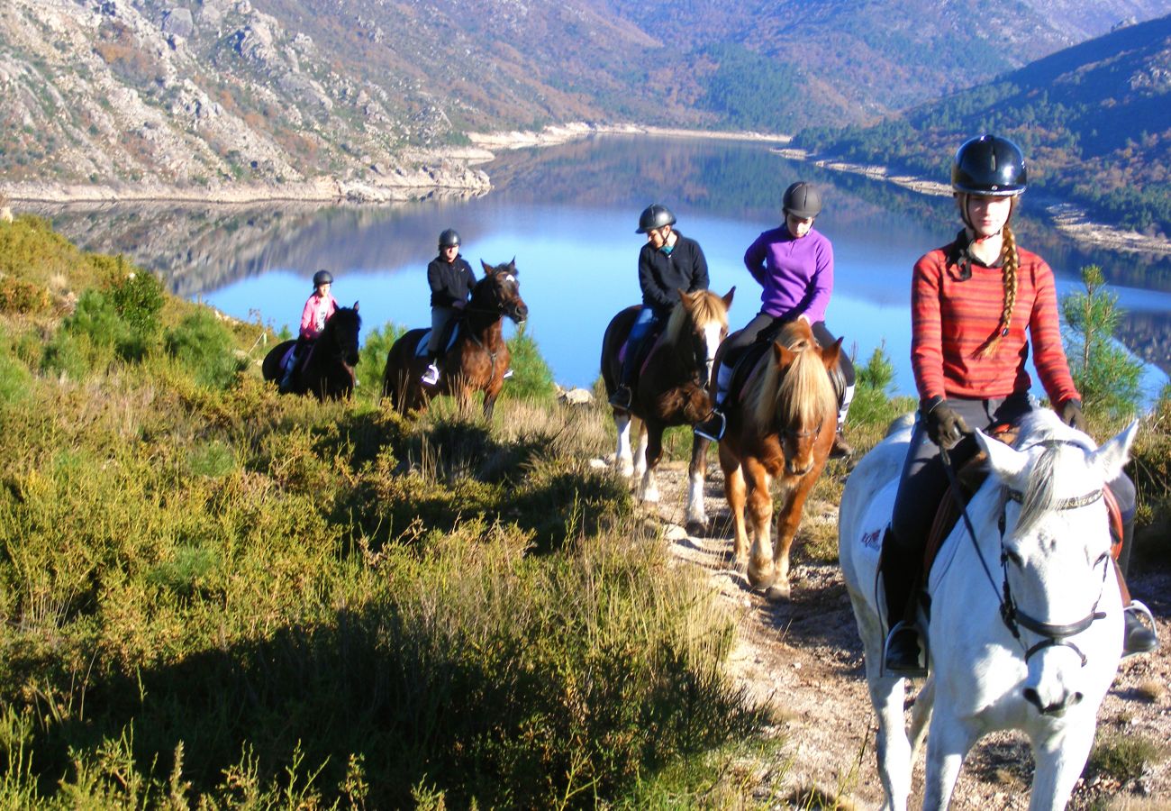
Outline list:
[[[712,413],[694,428],[696,434],[712,442],[724,436],[724,402],[738,356],[763,335],[772,336],[789,321],[803,320],[817,342],[828,347],[837,339],[826,328],[826,307],[834,293],[834,246],[813,227],[821,213],[821,193],[806,180],[797,180],[785,191],[781,200],[785,222],[765,231],[748,246],[744,265],[762,291],[760,312],[724,346],[715,372],[715,398]],[[842,436],[845,415],[854,398],[854,363],[842,353],[838,368],[845,382],[837,413],[837,432],[830,456],[849,456],[851,448]]]

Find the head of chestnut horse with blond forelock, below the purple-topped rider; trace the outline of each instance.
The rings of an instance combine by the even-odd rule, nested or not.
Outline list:
[[[802,320],[785,325],[773,343],[772,363],[756,390],[758,425],[774,425],[793,476],[809,472],[819,454],[828,454],[837,428],[837,395],[829,370],[837,363],[842,339],[822,348]]]

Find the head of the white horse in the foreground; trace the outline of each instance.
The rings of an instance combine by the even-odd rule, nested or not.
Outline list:
[[[1121,599],[1103,490],[1137,429],[1097,448],[1043,409],[1026,418],[1015,447],[977,434],[1002,485],[1001,615],[1023,650],[1023,697],[1042,715],[1080,703],[1088,670],[1117,667]]]

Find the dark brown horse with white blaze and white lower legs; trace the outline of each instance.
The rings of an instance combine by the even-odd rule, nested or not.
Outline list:
[[[642,478],[641,498],[659,499],[655,466],[663,456],[663,431],[670,425],[693,425],[711,411],[707,379],[715,350],[727,336],[728,307],[735,287],[719,297],[711,291],[679,291],[679,304],[671,311],[663,335],[655,342],[643,363],[642,374],[631,389],[631,410],[614,410],[618,430],[615,464],[623,476],[636,472]],[[602,379],[605,390],[614,394],[622,375],[618,357],[638,307],[628,307],[615,315],[602,339]],[[637,463],[630,449],[631,414],[643,421]],[[691,443],[690,486],[687,489],[687,525],[707,526],[704,510],[704,470],[707,464],[707,439],[694,436]]]

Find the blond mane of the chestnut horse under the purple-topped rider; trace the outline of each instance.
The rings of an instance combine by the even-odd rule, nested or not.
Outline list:
[[[746,413],[753,416],[758,430],[762,431],[774,417],[785,425],[809,425],[833,414],[837,395],[809,325],[801,320],[786,323],[776,343],[795,353],[796,357],[782,373],[773,362],[772,349],[766,353],[765,374],[745,398]]]

